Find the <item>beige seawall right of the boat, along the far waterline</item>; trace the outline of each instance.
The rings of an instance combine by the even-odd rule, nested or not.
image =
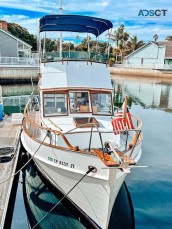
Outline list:
[[[171,78],[172,70],[168,69],[141,69],[141,68],[116,68],[109,67],[111,74],[117,75],[132,75],[132,76],[146,76],[146,77],[160,77]]]

